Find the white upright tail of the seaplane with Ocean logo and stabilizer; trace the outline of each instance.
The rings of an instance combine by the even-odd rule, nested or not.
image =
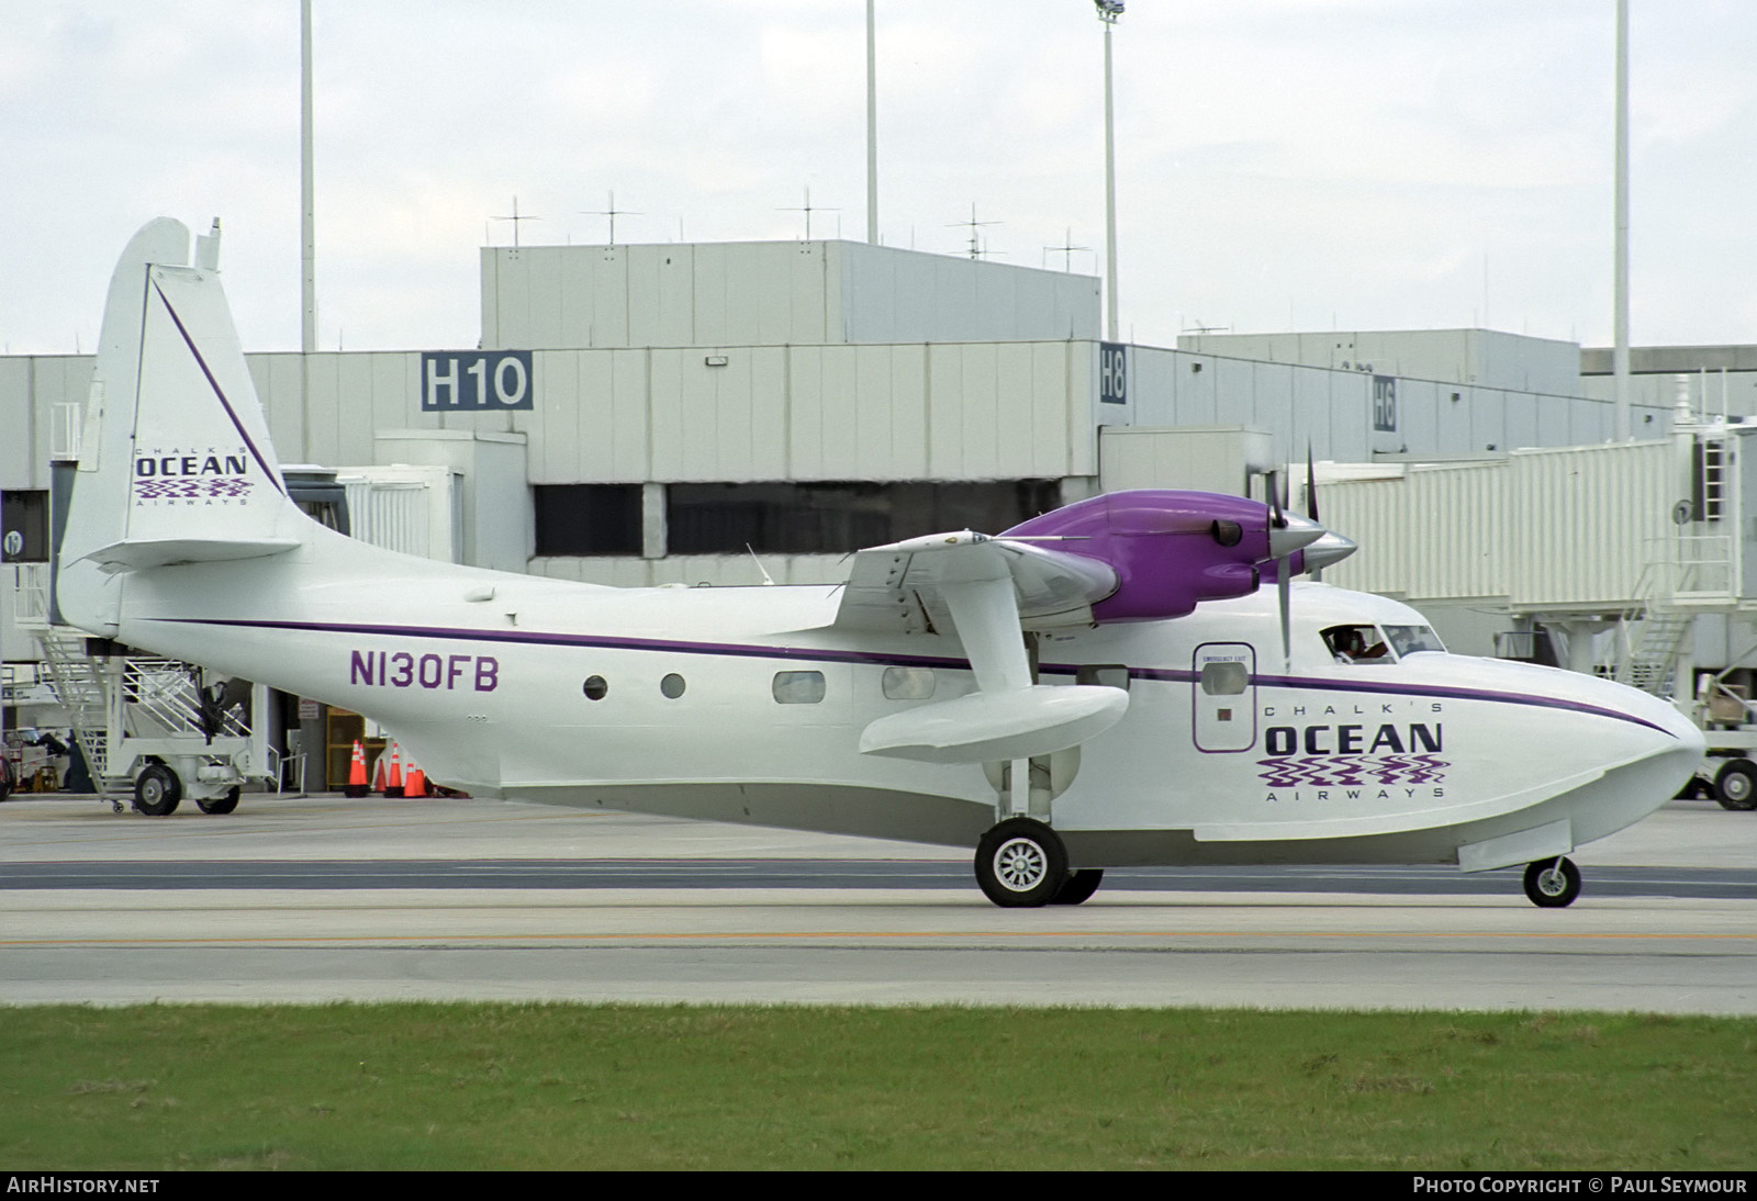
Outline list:
[[[220,286],[218,221],[148,223],[111,279],[63,569],[255,558],[300,544]]]

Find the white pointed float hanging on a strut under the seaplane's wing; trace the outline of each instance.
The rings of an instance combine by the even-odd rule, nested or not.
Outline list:
[[[1121,688],[1033,685],[973,692],[878,718],[861,732],[861,753],[928,764],[1030,759],[1079,746],[1128,711]]]

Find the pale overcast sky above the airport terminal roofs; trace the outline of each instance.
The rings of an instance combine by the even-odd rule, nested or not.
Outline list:
[[[316,0],[320,346],[480,335],[478,248],[866,235],[863,0]],[[1757,342],[1757,4],[1630,0],[1632,341]],[[1608,344],[1615,0],[1128,0],[1123,335]],[[878,216],[1098,274],[1089,0],[878,0]],[[225,225],[299,346],[299,2],[0,5],[0,349],[90,351],[128,235]],[[1072,253],[1063,246],[1089,248]]]

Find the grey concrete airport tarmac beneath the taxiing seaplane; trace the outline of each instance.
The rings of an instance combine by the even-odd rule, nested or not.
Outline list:
[[[518,874],[562,860],[580,873],[562,887]],[[1576,860],[1587,890],[1567,910],[1534,908],[1516,880],[1455,892],[1434,869],[1325,869],[1312,890],[1107,881],[1077,908],[1009,911],[968,880],[968,852],[912,843],[497,801],[249,795],[228,816],[144,818],[14,797],[0,1003],[1757,1013],[1757,813],[1673,802]],[[1722,888],[1606,895],[1595,867]],[[413,869],[423,887],[401,887]],[[629,874],[654,869],[659,887]]]

